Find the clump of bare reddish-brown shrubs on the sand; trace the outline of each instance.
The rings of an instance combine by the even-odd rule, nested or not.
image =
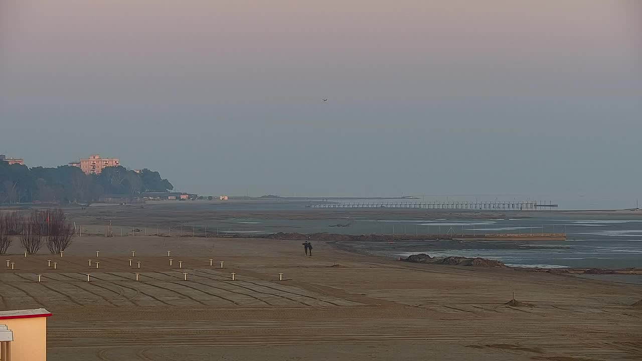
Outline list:
[[[37,253],[43,243],[49,252],[58,254],[69,247],[75,234],[62,209],[0,213],[0,254],[6,254],[15,236],[28,254]]]

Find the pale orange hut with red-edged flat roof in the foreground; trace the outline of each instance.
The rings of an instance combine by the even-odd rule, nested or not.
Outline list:
[[[0,311],[0,337],[2,361],[47,361],[47,317],[51,313],[44,308],[33,310]],[[4,329],[4,327],[0,327]],[[11,335],[4,331],[11,331]],[[9,337],[10,336],[10,337]]]

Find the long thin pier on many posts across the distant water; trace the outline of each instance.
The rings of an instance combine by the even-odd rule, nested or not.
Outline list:
[[[417,208],[417,209],[514,209],[537,210],[557,207],[551,202],[387,202],[387,203],[322,203],[311,208]]]

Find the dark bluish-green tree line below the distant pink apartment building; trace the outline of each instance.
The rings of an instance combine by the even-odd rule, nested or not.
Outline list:
[[[0,204],[96,202],[103,195],[134,198],[143,192],[171,189],[169,180],[148,169],[138,173],[115,166],[103,168],[98,175],[86,175],[74,166],[28,168],[0,161]]]

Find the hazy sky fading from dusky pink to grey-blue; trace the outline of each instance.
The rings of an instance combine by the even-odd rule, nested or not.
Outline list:
[[[641,141],[639,0],[0,0],[0,153],[30,166],[626,200]]]

